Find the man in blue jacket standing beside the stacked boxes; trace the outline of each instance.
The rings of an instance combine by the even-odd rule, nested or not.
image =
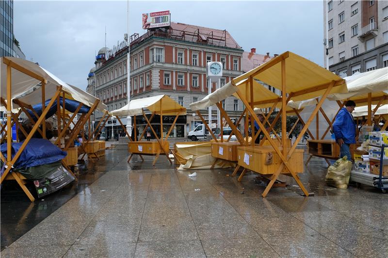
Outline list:
[[[348,160],[352,159],[349,145],[356,143],[356,123],[352,116],[355,107],[356,103],[353,100],[348,100],[345,107],[339,110],[336,120],[333,123],[336,142],[340,147],[339,157],[347,156]]]

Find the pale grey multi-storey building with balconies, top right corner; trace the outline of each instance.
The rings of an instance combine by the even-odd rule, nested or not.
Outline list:
[[[345,77],[388,66],[387,0],[324,0],[323,20],[330,71]]]

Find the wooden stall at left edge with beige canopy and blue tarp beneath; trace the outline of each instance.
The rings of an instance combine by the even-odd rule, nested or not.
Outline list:
[[[18,123],[17,116],[20,115],[20,110],[26,114],[31,123],[31,128],[29,128],[31,130],[29,131],[26,131],[20,124],[18,126],[23,138],[25,138],[21,145],[16,149],[13,143],[7,144],[6,150],[1,153],[1,161],[5,164],[4,171],[1,174],[1,182],[6,179],[16,180],[30,200],[33,201],[34,197],[25,186],[26,178],[16,171],[14,165],[17,164],[19,157],[25,156],[22,153],[24,153],[32,138],[36,136],[43,139],[47,138],[46,119],[53,114],[56,115],[57,136],[55,145],[59,148],[62,147],[62,151],[66,153],[94,110],[97,108],[103,110],[106,106],[97,98],[66,84],[38,64],[12,57],[2,57],[0,59],[0,66],[0,97],[1,105],[6,106],[7,143],[13,142],[12,123]],[[40,87],[36,89],[37,85],[40,85]],[[15,114],[12,112],[12,109],[17,107],[20,107],[20,110]],[[73,113],[72,117],[67,120],[66,110],[70,110]],[[78,118],[75,126],[70,130],[70,124],[74,123],[74,118],[78,113],[81,113],[81,117]],[[65,138],[67,132],[70,133]],[[46,153],[44,155],[49,154]],[[71,173],[66,162],[68,160],[62,159],[62,166]],[[11,171],[12,173],[10,173]]]

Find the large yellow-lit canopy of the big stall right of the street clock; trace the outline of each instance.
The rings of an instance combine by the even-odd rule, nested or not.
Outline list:
[[[335,81],[335,87],[331,90],[332,93],[345,93],[347,92],[345,81],[339,76],[327,71],[318,64],[308,61],[307,59],[298,56],[292,52],[285,52],[276,58],[252,69],[251,71],[238,76],[224,85],[222,88],[210,93],[204,99],[190,104],[192,110],[204,109],[209,106],[220,102],[230,95],[237,94],[235,92],[239,89],[245,92],[247,79],[253,77],[254,88],[254,106],[260,106],[265,104],[264,107],[271,106],[269,103],[274,103],[279,96],[273,93],[270,95],[268,92],[263,92],[262,89],[257,88],[255,81],[261,81],[265,84],[271,85],[281,90],[281,62],[279,60],[285,60],[286,64],[286,85],[287,93],[292,94],[291,100],[301,101],[319,97],[323,95],[332,81]],[[259,84],[259,83],[258,83]],[[260,85],[260,84],[259,84]],[[262,87],[262,85],[260,85]],[[263,87],[262,87],[263,88]],[[265,88],[264,88],[265,89]],[[267,90],[268,91],[268,90]],[[244,94],[244,93],[243,93]],[[263,94],[266,94],[265,96]],[[250,101],[250,98],[247,98]]]

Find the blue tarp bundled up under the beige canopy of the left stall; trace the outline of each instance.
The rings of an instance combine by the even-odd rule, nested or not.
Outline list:
[[[51,101],[51,99],[46,100],[45,101],[45,106],[48,106],[50,101]],[[61,105],[62,107],[64,106],[63,105],[62,97],[59,98],[59,105]],[[65,99],[65,109],[67,111],[69,111],[69,112],[76,111],[78,105],[80,105],[80,102],[78,102],[76,100]],[[42,104],[33,105],[32,108],[35,110],[35,112],[39,116],[42,114]],[[78,113],[87,113],[87,112],[89,112],[89,109],[90,109],[89,106],[82,105],[81,108],[80,108],[80,111],[78,111]],[[27,111],[28,111],[28,113],[30,113],[32,119],[34,121],[37,121],[35,115],[31,111],[31,109],[27,109]],[[55,100],[54,104],[52,104],[52,106],[50,107],[49,112],[46,115],[46,119],[48,119],[49,117],[54,115],[56,111],[57,111],[57,100]]]

